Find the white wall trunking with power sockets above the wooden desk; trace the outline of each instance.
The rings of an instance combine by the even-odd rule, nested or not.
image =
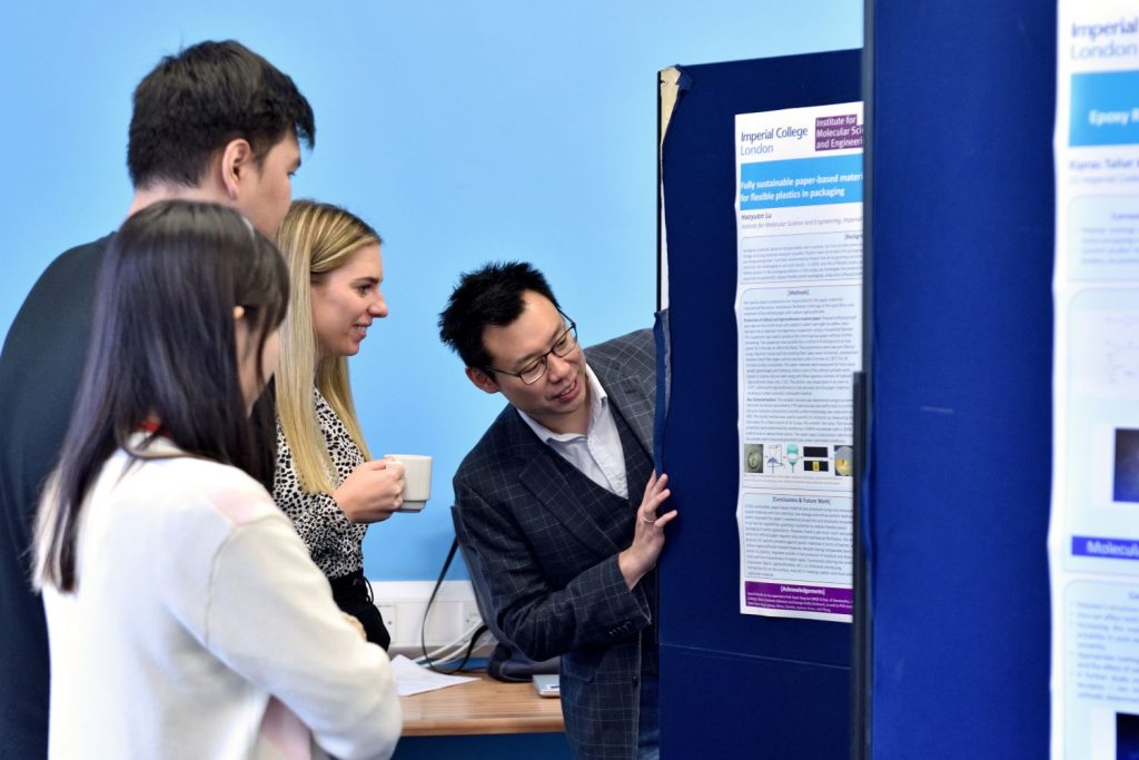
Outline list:
[[[376,606],[392,635],[391,654],[416,659],[423,656],[424,644],[428,651],[466,644],[482,626],[470,581],[443,581],[424,630],[424,611],[434,588],[434,581],[371,581]],[[494,638],[486,635],[480,639],[474,656],[489,656],[493,649]]]

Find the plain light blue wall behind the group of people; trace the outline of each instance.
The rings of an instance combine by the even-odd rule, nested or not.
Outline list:
[[[862,2],[3,2],[0,332],[56,254],[121,221],[138,80],[224,38],[313,104],[295,194],[387,240],[392,316],[353,361],[357,400],[375,453],[432,453],[436,472],[424,514],[369,532],[367,572],[421,580],[451,541],[451,474],[501,406],[436,337],[458,273],[533,261],[587,342],[650,325],[657,70],[860,47]],[[82,318],[60,304],[62,326]]]

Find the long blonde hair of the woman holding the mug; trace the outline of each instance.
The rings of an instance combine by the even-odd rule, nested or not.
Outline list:
[[[331,492],[339,485],[317,419],[313,385],[344,423],[364,459],[371,458],[352,402],[347,359],[317,358],[311,283],[342,267],[362,246],[382,243],[376,230],[357,215],[316,201],[294,201],[277,232],[277,246],[288,264],[293,285],[288,317],[281,326],[281,354],[276,374],[277,417],[293,452],[301,488],[310,493]]]

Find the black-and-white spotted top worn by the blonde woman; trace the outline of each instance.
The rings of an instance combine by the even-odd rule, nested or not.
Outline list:
[[[320,431],[336,467],[333,482],[339,484],[363,463],[363,455],[320,391],[313,389],[312,393]],[[309,493],[301,488],[301,476],[279,419],[273,501],[293,521],[312,561],[328,578],[339,578],[363,567],[363,534],[368,526],[349,522],[331,493]]]

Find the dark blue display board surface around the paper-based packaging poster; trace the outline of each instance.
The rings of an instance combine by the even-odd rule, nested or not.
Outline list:
[[[667,758],[842,758],[851,627],[739,613],[735,115],[860,100],[860,51],[680,66],[663,146],[670,403],[680,517],[661,565]]]

